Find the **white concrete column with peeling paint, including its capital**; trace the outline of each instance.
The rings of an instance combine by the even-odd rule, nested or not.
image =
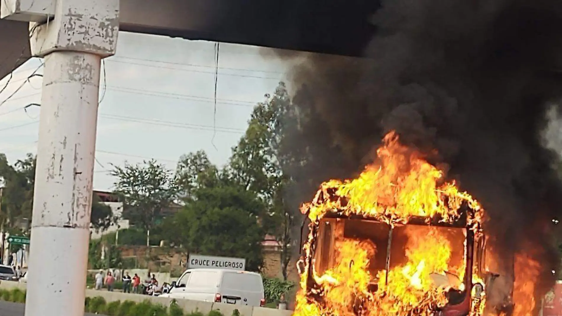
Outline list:
[[[34,30],[44,57],[25,316],[84,315],[100,64],[115,53],[117,0],[56,0]]]

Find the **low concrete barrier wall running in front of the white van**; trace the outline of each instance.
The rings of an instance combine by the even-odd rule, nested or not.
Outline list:
[[[12,290],[13,288],[19,288],[20,290],[26,289],[26,283],[12,282],[12,281],[2,281],[0,282],[0,289],[2,290]],[[96,290],[86,290],[87,297],[103,297],[107,303],[112,301],[134,301],[140,303],[144,300],[148,300],[153,304],[161,304],[164,306],[170,306],[173,299],[167,297],[158,296],[148,296],[140,294],[125,294],[121,292],[108,292],[108,291],[96,291]],[[291,316],[292,310],[279,310],[273,308],[263,308],[263,307],[252,307],[244,305],[232,305],[223,303],[211,303],[203,301],[192,301],[176,299],[178,305],[183,308],[187,313],[191,312],[201,312],[203,314],[209,313],[211,310],[220,310],[224,316],[231,316],[235,309],[238,309],[240,315],[242,316]]]

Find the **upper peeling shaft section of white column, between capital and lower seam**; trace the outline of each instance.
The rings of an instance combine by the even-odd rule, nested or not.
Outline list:
[[[51,59],[60,59],[52,66]],[[32,227],[89,229],[100,58],[78,52],[47,57]],[[53,70],[53,71],[51,71]],[[96,71],[97,70],[97,71]],[[47,117],[48,119],[44,119]],[[49,146],[44,146],[48,138]],[[91,147],[91,148],[90,148]],[[42,158],[43,157],[43,158]]]

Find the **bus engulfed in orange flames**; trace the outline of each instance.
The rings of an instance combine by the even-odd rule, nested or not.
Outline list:
[[[487,271],[478,201],[395,133],[377,156],[302,205],[310,224],[294,315],[511,315],[513,274],[488,297],[500,276]]]

